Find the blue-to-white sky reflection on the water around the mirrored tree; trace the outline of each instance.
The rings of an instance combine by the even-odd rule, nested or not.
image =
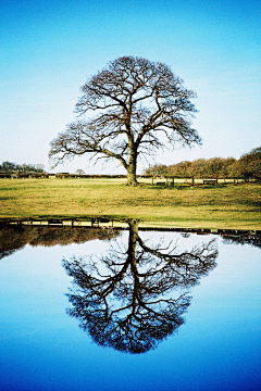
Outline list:
[[[179,234],[154,231],[139,231],[138,237],[146,245],[142,249],[140,242],[136,247],[136,253],[138,248],[139,255],[145,260],[144,274],[145,269],[151,270],[151,262],[154,262],[153,269],[159,266],[156,255],[147,250],[156,248],[160,238],[163,238],[165,244],[173,240],[172,245],[175,245],[178,239],[176,254],[191,251],[195,245],[200,247],[202,242],[207,243],[213,239],[213,236],[191,235],[189,238],[184,238]],[[89,316],[84,312],[86,307],[78,307],[78,311],[82,310],[79,314],[83,315],[83,319],[80,316],[75,319],[74,316],[66,314],[65,310],[73,306],[64,293],[67,293],[69,287],[72,287],[73,278],[66,275],[61,260],[70,261],[72,255],[75,255],[75,260],[85,257],[87,262],[86,255],[91,253],[102,254],[105,258],[110,251],[109,241],[101,241],[97,236],[88,237],[88,241],[85,239],[78,240],[83,242],[78,244],[65,245],[63,241],[64,245],[45,248],[37,245],[35,240],[34,245],[27,244],[23,250],[0,260],[1,390],[258,390],[260,388],[259,248],[224,244],[223,240],[216,237],[219,256],[216,260],[214,256],[210,258],[211,262],[213,261],[213,267],[210,267],[208,277],[203,277],[202,273],[198,278],[199,285],[191,288],[189,278],[186,285],[186,278],[184,279],[186,276],[183,275],[181,277],[183,288],[175,290],[175,294],[172,293],[175,299],[179,298],[186,285],[186,291],[189,288],[189,297],[191,297],[187,312],[182,311],[179,314],[181,324],[174,327],[178,331],[172,333],[172,329],[166,327],[165,335],[164,332],[160,335],[154,333],[157,327],[152,327],[150,328],[154,338],[152,349],[148,349],[147,353],[126,354],[114,349],[119,345],[102,348],[100,340],[98,340],[100,344],[94,343],[95,338],[89,337],[88,329],[88,321],[94,320],[92,318],[87,319],[86,323],[88,332],[84,332],[78,327],[80,323],[83,325],[86,315]],[[58,242],[59,240],[55,243]],[[113,247],[116,249],[119,249],[117,243],[123,243],[121,249],[123,245],[129,250],[127,231],[122,232],[121,236],[116,235],[113,240]],[[13,244],[12,250],[14,247]],[[161,247],[164,247],[163,243]],[[128,255],[129,252],[121,255],[123,266]],[[215,261],[216,267],[214,267]],[[114,265],[114,267],[119,272],[119,266]],[[110,303],[116,305],[123,291],[127,291],[129,298],[124,302],[126,305],[132,302],[130,298],[134,293],[137,293],[127,283],[132,278],[130,269],[132,265],[125,280],[122,280],[117,297],[110,300]],[[181,275],[181,267],[176,269],[175,265],[175,270],[172,267],[171,272],[169,264],[166,272],[166,277],[174,272]],[[89,273],[88,276],[90,275]],[[73,273],[72,276],[75,279]],[[151,282],[152,277],[156,278],[153,282]],[[159,276],[147,274],[141,280],[146,282],[144,286],[149,285],[150,288],[149,291],[140,288],[141,299],[147,302],[151,301],[151,298],[158,300]],[[175,282],[172,279],[169,279],[170,281],[172,281],[171,288],[175,288]],[[108,283],[103,285],[104,289],[111,281]],[[94,288],[94,283],[91,287]],[[83,295],[84,291],[89,293],[89,289],[90,286],[87,291],[85,287],[78,294]],[[166,292],[170,300],[172,294],[169,289]],[[99,303],[96,300],[94,304],[92,300],[90,304],[97,306]],[[166,307],[163,305],[162,308],[164,312]],[[94,316],[94,312],[90,314]],[[140,316],[140,312],[138,315]],[[148,320],[148,316],[146,319]],[[174,320],[177,320],[175,316]],[[157,326],[157,321],[152,324]],[[172,321],[170,324],[173,325]],[[103,324],[99,321],[95,325],[100,327]],[[99,327],[96,326],[95,331],[98,331],[97,335],[100,333],[102,339]],[[94,333],[94,328],[91,330]],[[138,337],[140,341],[140,335]],[[158,339],[160,341],[163,339],[159,345],[153,344],[153,341],[157,342],[157,337],[162,337]],[[113,345],[113,343],[107,344]]]

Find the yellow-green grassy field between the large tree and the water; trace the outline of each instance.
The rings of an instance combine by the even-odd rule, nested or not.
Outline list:
[[[261,229],[261,185],[126,187],[124,179],[0,179],[0,219],[139,218],[144,225]]]

